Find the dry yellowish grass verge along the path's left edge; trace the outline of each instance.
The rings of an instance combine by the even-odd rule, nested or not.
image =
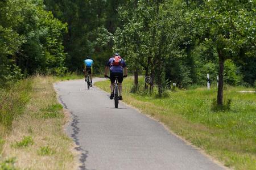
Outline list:
[[[77,153],[63,130],[68,117],[57,103],[53,78],[32,81],[32,99],[6,135],[1,159],[15,158],[20,169],[77,169]],[[26,143],[26,137],[32,142]]]

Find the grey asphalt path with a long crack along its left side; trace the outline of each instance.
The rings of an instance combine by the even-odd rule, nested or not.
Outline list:
[[[159,122],[122,102],[115,109],[109,94],[87,90],[84,80],[54,86],[71,113],[66,131],[81,153],[79,169],[224,169]]]

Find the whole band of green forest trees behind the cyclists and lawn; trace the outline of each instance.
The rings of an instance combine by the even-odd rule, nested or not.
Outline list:
[[[1,0],[0,86],[35,74],[94,74],[119,53],[144,90],[176,83],[256,86],[256,1]],[[149,87],[148,87],[149,86]]]

